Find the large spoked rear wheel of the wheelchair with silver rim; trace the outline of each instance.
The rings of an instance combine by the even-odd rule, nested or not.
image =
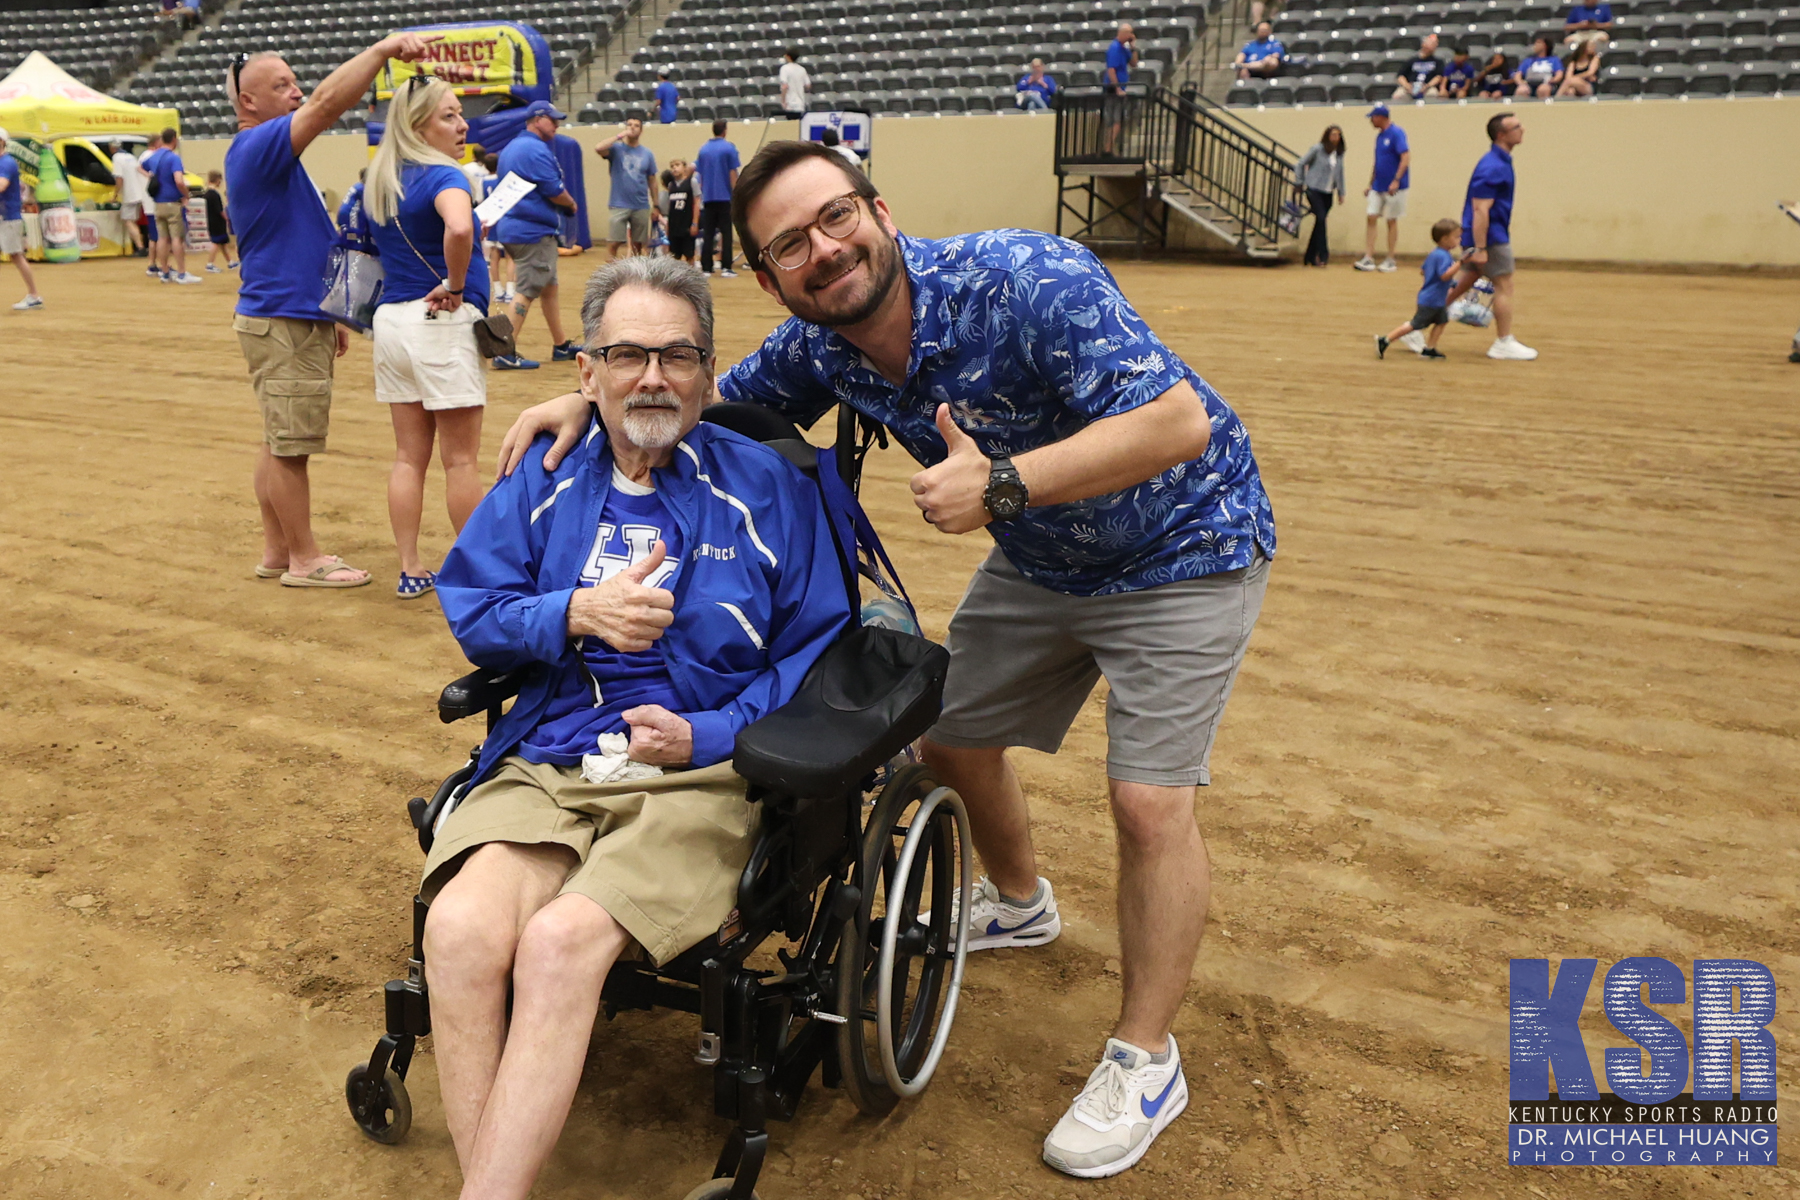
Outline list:
[[[851,874],[860,901],[837,959],[839,1065],[869,1115],[923,1092],[938,1069],[963,986],[972,876],[961,797],[927,766],[895,772],[869,813]]]

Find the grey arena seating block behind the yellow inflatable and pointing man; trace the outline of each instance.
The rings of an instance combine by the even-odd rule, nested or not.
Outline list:
[[[558,85],[587,65],[625,23],[635,0],[524,0],[504,9],[446,0],[362,0],[297,4],[245,0],[200,36],[158,61],[122,94],[140,104],[169,104],[194,137],[225,137],[238,124],[225,99],[225,68],[239,50],[281,50],[308,92],[344,59],[394,29],[441,22],[511,20],[536,29],[556,58]],[[347,113],[342,128],[360,130]]]

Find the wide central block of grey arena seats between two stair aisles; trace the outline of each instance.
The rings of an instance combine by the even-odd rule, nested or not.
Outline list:
[[[580,121],[619,122],[652,108],[657,68],[680,88],[680,119],[761,119],[779,110],[776,70],[796,49],[814,108],[922,115],[1019,112],[1015,85],[1040,58],[1062,86],[1094,85],[1120,20],[1138,32],[1150,83],[1206,29],[1219,0],[1046,0],[961,9],[941,0],[848,0],[817,9],[688,0],[652,34]]]

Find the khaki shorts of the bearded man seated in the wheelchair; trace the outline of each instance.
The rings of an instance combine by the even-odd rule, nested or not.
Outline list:
[[[562,892],[598,903],[661,966],[713,937],[738,905],[760,815],[731,763],[587,783],[580,766],[511,756],[445,820],[419,896],[430,903],[488,842],[567,846],[581,862]]]

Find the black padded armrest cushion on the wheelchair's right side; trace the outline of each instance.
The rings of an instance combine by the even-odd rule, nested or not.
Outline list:
[[[943,705],[950,651],[864,626],[832,644],[785,705],[738,734],[731,766],[754,784],[828,799],[931,729]]]

